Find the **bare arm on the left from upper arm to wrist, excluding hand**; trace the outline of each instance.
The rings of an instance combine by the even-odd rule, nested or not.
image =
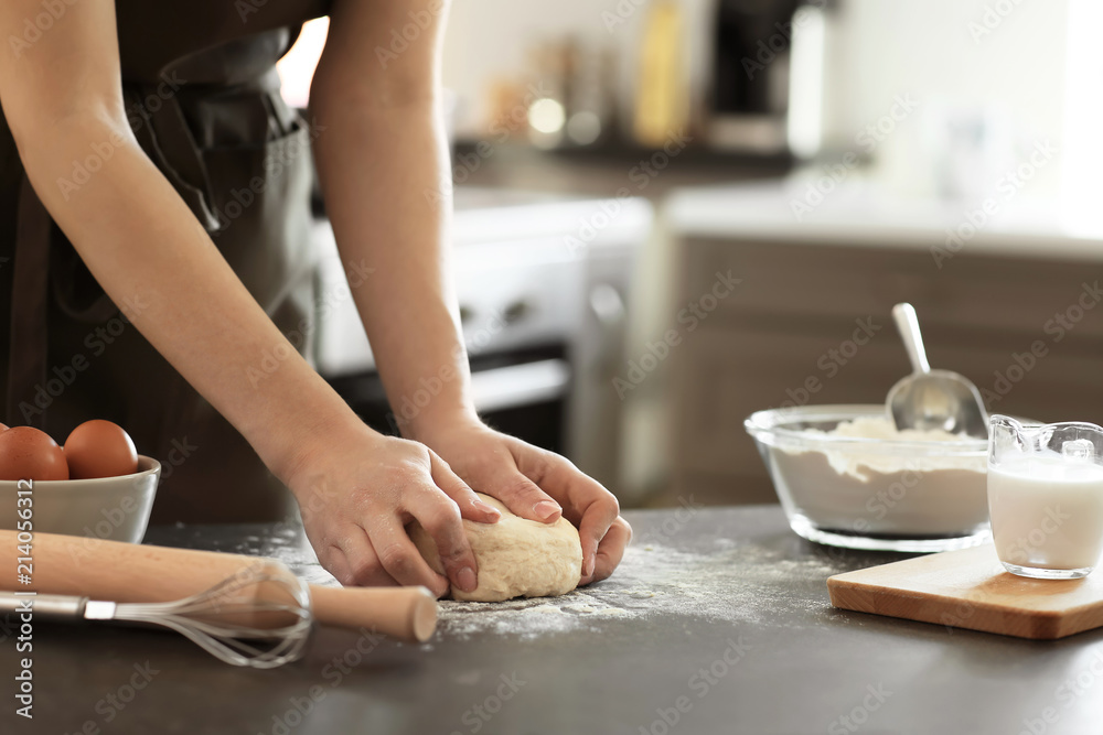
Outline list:
[[[4,2],[0,28],[40,11]],[[137,305],[138,329],[270,467],[283,469],[323,423],[355,419],[298,356],[251,385],[248,368],[286,339],[131,134],[109,0],[67,6],[18,58],[0,54],[0,100],[35,192],[89,270],[116,303]],[[62,184],[89,155],[103,160],[92,179]],[[289,391],[309,414],[279,399]]]

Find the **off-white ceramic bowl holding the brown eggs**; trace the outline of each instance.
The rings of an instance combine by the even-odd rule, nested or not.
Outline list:
[[[161,463],[139,456],[132,475],[33,483],[33,530],[140,543],[160,476]],[[0,480],[0,529],[17,528],[17,485]]]

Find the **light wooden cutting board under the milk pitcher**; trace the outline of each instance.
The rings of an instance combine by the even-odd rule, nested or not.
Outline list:
[[[1019,638],[1103,626],[1103,570],[1083,580],[1016,576],[990,543],[836,574],[827,591],[842,609]]]

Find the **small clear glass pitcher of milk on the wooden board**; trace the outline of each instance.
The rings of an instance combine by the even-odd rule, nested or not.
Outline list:
[[[988,515],[1008,572],[1088,576],[1103,552],[1103,428],[988,421]]]

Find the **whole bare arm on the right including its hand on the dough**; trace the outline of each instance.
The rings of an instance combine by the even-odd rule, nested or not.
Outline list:
[[[585,584],[612,572],[631,536],[615,498],[565,458],[483,425],[470,399],[437,107],[446,8],[336,1],[311,87],[311,112],[325,130],[314,151],[326,209],[342,257],[375,269],[354,295],[403,434],[518,516],[550,521],[561,512],[578,526]],[[394,44],[396,35],[408,46]],[[439,385],[427,404],[414,401],[422,381]]]

